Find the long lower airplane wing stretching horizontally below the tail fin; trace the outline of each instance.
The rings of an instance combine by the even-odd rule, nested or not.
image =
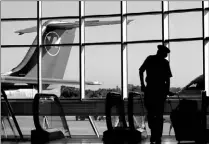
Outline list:
[[[14,76],[1,76],[1,83],[18,83],[18,84],[38,84],[37,78],[30,78],[30,77],[14,77]],[[62,80],[62,79],[49,79],[49,78],[42,78],[42,84],[80,84],[79,81],[76,80]],[[98,81],[86,81],[86,85],[101,85]]]

